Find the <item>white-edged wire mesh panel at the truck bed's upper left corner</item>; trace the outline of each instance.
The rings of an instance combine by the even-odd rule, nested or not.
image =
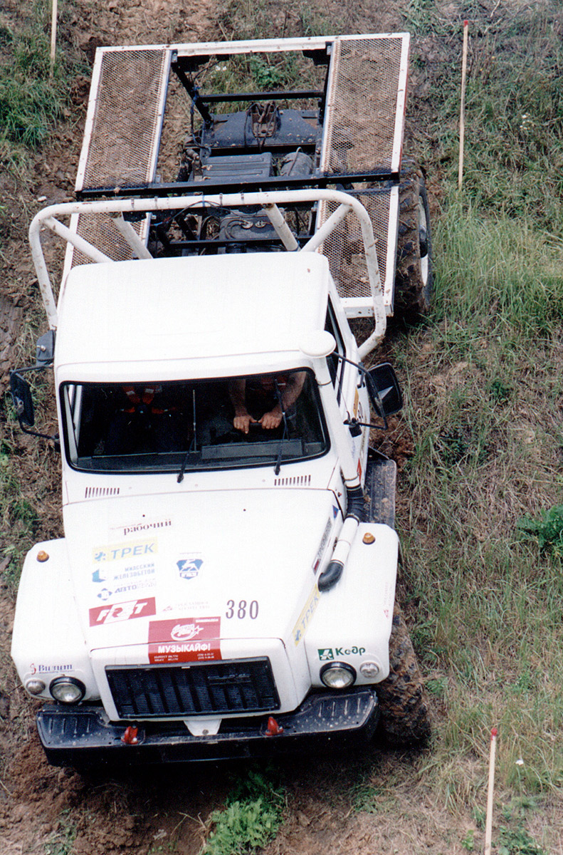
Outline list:
[[[84,178],[77,190],[153,179],[161,128],[167,50],[103,54]]]

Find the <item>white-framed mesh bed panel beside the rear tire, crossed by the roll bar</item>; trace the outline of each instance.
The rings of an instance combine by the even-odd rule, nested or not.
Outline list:
[[[367,209],[375,234],[384,304],[392,307],[395,282],[396,236],[399,191],[397,186],[347,191]],[[320,224],[337,209],[336,203],[320,203]],[[372,314],[372,292],[367,278],[360,223],[347,215],[325,239],[321,251],[328,258],[337,291],[349,317]]]

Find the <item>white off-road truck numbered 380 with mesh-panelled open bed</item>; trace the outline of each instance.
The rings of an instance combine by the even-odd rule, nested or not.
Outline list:
[[[202,92],[227,60],[289,54],[317,88]],[[98,50],[79,201],[30,227],[50,330],[11,376],[28,433],[26,372],[56,390],[65,536],[26,557],[12,646],[51,763],[268,754],[378,722],[427,739],[396,467],[370,449],[402,395],[362,363],[396,287],[405,310],[430,297],[407,56],[404,34]],[[171,72],[191,137],[165,182]],[[57,296],[47,229],[67,241]],[[358,345],[349,318],[370,316]]]

